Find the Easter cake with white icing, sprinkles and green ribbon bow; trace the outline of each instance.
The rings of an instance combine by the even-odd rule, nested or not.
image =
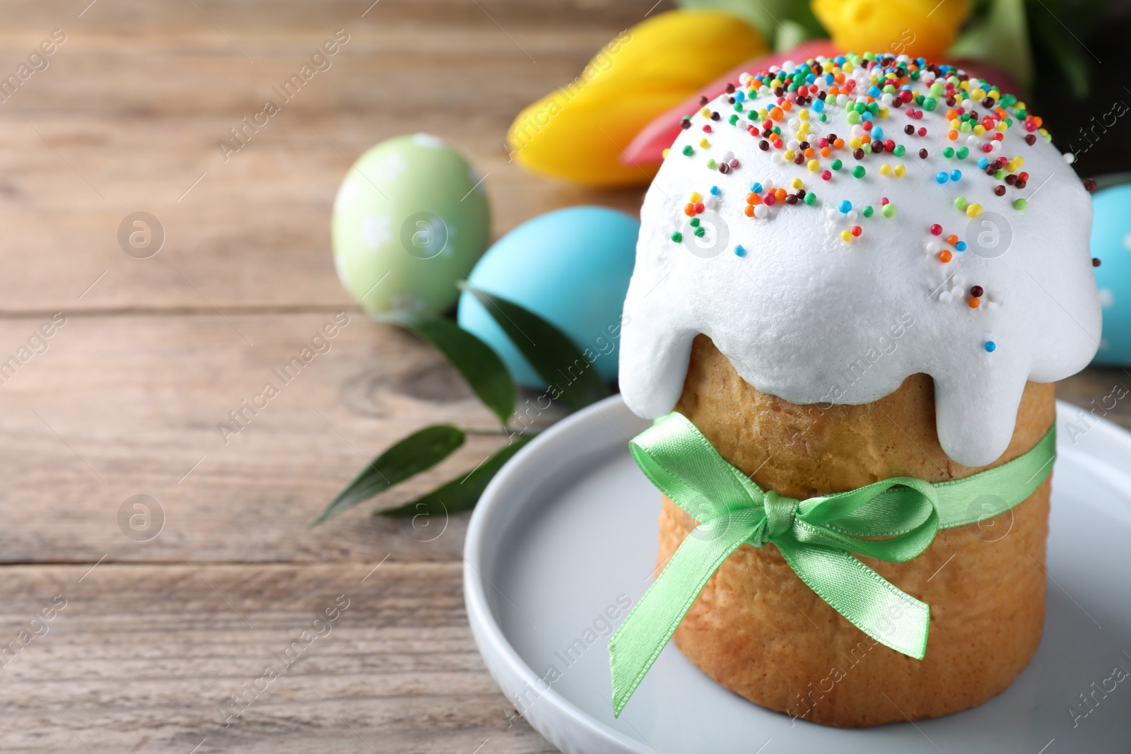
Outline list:
[[[815,722],[986,701],[1041,640],[1051,383],[1099,343],[1091,187],[1016,96],[907,57],[745,73],[682,127],[641,210],[620,387],[636,414],[683,434],[633,454],[648,471],[653,451],[675,466],[706,453],[692,476],[720,457],[759,510],[741,519],[754,535],[694,565],[701,578],[668,578],[683,596],[657,608],[666,634],[644,635],[659,615],[646,595],[613,638],[618,712],[671,631],[725,687]],[[653,590],[692,567],[677,551],[733,535],[702,536],[691,512],[710,495],[677,506],[663,484],[685,492],[677,476],[649,473],[665,492]],[[837,497],[861,489],[879,502]],[[934,502],[880,523],[899,492]],[[798,520],[827,499],[862,506],[813,534]],[[871,556],[931,527],[914,552]],[[847,551],[849,572],[923,608],[923,644],[838,592],[840,577],[813,578],[806,546],[810,563]]]

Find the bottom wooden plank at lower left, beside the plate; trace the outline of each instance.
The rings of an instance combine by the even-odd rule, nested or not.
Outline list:
[[[374,565],[8,566],[0,748],[553,752],[483,667],[459,565]]]

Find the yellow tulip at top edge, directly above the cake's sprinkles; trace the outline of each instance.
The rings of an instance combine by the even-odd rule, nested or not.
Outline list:
[[[844,50],[935,61],[970,15],[969,0],[812,0],[812,8]]]

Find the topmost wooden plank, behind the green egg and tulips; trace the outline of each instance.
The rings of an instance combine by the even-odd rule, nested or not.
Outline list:
[[[361,18],[338,2],[311,20],[296,6],[198,5],[202,14],[143,2],[98,3],[83,18],[64,3],[9,11],[18,26],[0,38],[0,61],[11,66],[52,28],[69,31],[0,109],[0,313],[74,307],[84,292],[80,305],[102,311],[347,306],[330,259],[335,192],[349,161],[406,132],[448,138],[486,175],[497,236],[562,206],[639,207],[638,190],[532,176],[501,144],[523,106],[571,80],[642,10],[386,1]],[[344,27],[331,67],[225,161],[228,129],[278,98],[273,87]],[[116,241],[139,210],[166,233],[148,260]]]

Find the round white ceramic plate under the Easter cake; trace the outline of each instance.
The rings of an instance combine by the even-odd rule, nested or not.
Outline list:
[[[613,718],[606,639],[620,605],[651,581],[659,513],[628,452],[649,423],[619,397],[532,442],[480,500],[464,574],[475,640],[507,697],[569,754],[1126,754],[1131,677],[1112,678],[1131,671],[1131,435],[1099,422],[1073,444],[1078,414],[1059,405],[1044,639],[1017,681],[973,710],[863,730],[794,721],[670,644]]]

